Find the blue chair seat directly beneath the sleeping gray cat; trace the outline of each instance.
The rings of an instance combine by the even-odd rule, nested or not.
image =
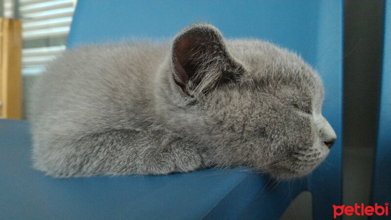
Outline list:
[[[29,123],[0,120],[0,143],[0,219],[278,219],[307,185],[245,168],[59,179],[32,169]]]

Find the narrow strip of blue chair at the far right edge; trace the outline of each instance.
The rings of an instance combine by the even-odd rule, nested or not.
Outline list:
[[[372,204],[391,201],[391,2],[386,1],[383,70],[377,147],[373,170]],[[373,219],[382,217],[373,216]],[[384,216],[383,216],[384,218]],[[388,217],[387,217],[388,218]]]

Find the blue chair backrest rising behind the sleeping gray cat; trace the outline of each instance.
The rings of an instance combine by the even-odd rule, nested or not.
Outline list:
[[[253,205],[246,208],[246,217],[279,218],[292,199],[309,190],[314,219],[329,219],[333,215],[332,205],[342,203],[342,4],[340,1],[79,0],[67,47],[134,37],[171,38],[188,24],[209,22],[226,38],[263,39],[299,53],[322,76],[326,89],[323,114],[338,138],[326,161],[313,174],[275,184],[272,191],[258,195]],[[232,202],[240,201],[227,199],[219,205]],[[220,214],[217,211],[209,217]],[[232,213],[231,217],[235,215]]]

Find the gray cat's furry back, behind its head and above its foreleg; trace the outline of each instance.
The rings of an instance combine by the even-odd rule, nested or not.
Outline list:
[[[47,66],[33,88],[33,124],[46,127],[56,121],[69,128],[104,130],[142,118],[152,111],[153,77],[168,53],[168,44],[157,43],[91,45],[65,51]]]

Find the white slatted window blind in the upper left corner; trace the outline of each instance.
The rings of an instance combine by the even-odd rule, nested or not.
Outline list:
[[[76,0],[19,0],[17,5],[22,20],[22,74],[38,74],[65,50]]]

